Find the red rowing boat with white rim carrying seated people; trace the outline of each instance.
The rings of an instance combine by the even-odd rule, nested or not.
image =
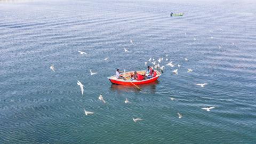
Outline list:
[[[131,77],[133,77],[133,75],[134,75],[134,71],[129,71],[129,72],[121,74],[121,76],[125,77],[126,80],[124,80],[124,79],[117,79],[115,75],[108,77],[108,79],[109,79],[109,81],[111,83],[119,84],[119,85],[148,84],[148,83],[156,81],[158,79],[158,77],[161,76],[161,73],[159,71],[157,71],[157,70],[155,70],[155,71],[156,71],[156,74],[157,74],[155,77],[149,78],[149,79],[145,79],[145,80],[142,80],[142,81],[130,81]],[[140,70],[140,71],[137,71],[137,73],[140,74],[140,75],[145,76],[146,70]]]

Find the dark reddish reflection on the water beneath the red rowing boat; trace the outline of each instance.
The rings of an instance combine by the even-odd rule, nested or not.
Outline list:
[[[134,93],[150,93],[155,94],[156,93],[156,87],[159,82],[155,81],[149,84],[143,84],[138,85],[141,90],[137,89],[137,87],[133,85],[117,85],[117,84],[111,84],[110,90],[113,92],[117,92],[118,94],[121,94],[123,92],[134,92]]]

